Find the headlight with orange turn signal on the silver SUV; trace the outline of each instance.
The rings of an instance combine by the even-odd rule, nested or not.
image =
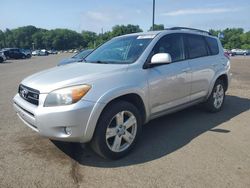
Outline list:
[[[90,90],[89,85],[78,85],[52,91],[46,97],[44,106],[62,106],[78,102]]]

